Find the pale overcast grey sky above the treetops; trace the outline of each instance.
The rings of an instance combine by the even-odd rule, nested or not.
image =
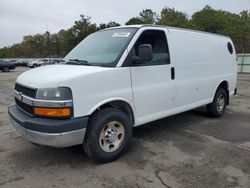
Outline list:
[[[44,33],[46,25],[52,33],[67,29],[80,14],[97,24],[124,24],[146,8],[160,13],[168,6],[191,15],[207,4],[235,13],[250,10],[250,0],[0,0],[0,48],[21,42],[25,35]]]

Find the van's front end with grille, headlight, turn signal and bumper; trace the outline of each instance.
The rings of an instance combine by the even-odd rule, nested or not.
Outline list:
[[[74,118],[70,88],[35,89],[16,83],[8,113],[28,141],[52,147],[82,144],[89,117]]]

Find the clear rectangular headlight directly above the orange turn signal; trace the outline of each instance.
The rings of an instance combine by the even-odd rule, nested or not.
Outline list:
[[[36,99],[72,100],[72,93],[70,88],[67,87],[38,89]]]

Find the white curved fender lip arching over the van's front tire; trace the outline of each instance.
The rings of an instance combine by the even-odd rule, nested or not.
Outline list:
[[[135,124],[135,110],[133,108],[133,105],[127,99],[124,98],[112,98],[104,100],[95,105],[93,108],[91,108],[88,114],[93,115],[95,112],[108,107],[116,108],[123,111],[129,117],[132,124]]]

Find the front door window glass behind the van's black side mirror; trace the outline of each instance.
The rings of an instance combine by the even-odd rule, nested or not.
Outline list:
[[[164,31],[144,31],[134,46],[136,56],[138,56],[138,49],[141,44],[150,44],[153,50],[153,59],[141,66],[170,64],[169,49]]]

